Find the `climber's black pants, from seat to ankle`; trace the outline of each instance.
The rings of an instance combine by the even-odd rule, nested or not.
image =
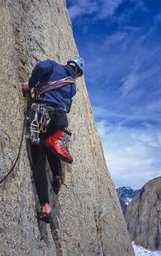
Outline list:
[[[51,106],[52,107],[52,106]],[[61,163],[58,157],[56,157],[53,152],[50,152],[44,145],[46,138],[53,135],[54,132],[61,129],[64,131],[65,127],[68,126],[67,114],[64,110],[56,108],[54,111],[49,110],[50,126],[47,132],[40,133],[40,144],[31,144],[31,157],[32,157],[32,171],[34,176],[34,185],[37,189],[37,195],[40,200],[40,205],[45,202],[49,202],[48,199],[48,179],[46,175],[46,157],[48,158],[48,163],[50,169],[54,176],[61,176]]]

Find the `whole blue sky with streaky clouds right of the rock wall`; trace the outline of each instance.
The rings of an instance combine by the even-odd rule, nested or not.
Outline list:
[[[67,0],[116,188],[161,175],[161,0]]]

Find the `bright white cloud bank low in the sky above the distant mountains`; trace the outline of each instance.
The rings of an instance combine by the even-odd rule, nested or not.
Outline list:
[[[151,126],[150,126],[151,127]],[[129,128],[108,121],[97,122],[97,129],[111,177],[116,187],[141,188],[160,175],[161,131],[157,128]]]

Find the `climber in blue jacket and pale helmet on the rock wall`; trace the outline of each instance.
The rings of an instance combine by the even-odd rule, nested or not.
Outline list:
[[[83,75],[83,69],[84,61],[78,56],[70,58],[67,65],[45,60],[35,65],[29,82],[21,83],[23,90],[31,91],[34,102],[29,115],[32,171],[42,206],[38,218],[46,223],[51,221],[46,157],[53,173],[53,191],[57,194],[61,187],[59,159],[72,163],[65,144],[70,138],[67,113],[76,93],[75,79]]]

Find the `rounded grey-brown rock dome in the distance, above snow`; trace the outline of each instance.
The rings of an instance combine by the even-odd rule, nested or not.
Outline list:
[[[150,180],[124,213],[130,238],[150,249],[161,249],[161,177]]]

